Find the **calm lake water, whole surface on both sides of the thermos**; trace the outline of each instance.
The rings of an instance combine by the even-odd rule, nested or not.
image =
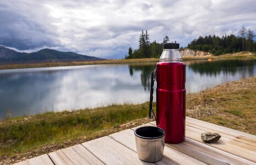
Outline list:
[[[186,64],[187,93],[256,75],[256,60]],[[0,119],[149,101],[154,68],[146,63],[0,70]]]

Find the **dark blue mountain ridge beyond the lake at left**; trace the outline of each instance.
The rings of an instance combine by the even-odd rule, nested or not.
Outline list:
[[[74,52],[61,52],[48,48],[38,52],[21,53],[4,46],[0,46],[0,63],[74,62],[98,60],[104,59],[85,56]]]

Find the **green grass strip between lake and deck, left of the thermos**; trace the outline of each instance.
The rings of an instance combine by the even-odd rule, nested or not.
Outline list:
[[[0,157],[81,136],[94,139],[98,131],[118,128],[123,123],[147,115],[148,103],[144,103],[6,119],[0,123]]]

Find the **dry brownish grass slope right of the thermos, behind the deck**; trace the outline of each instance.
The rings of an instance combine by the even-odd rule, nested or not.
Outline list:
[[[256,135],[256,77],[187,95],[187,116]]]

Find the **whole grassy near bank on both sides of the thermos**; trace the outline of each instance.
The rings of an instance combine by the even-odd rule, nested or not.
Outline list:
[[[256,135],[256,77],[187,95],[187,116]],[[0,160],[13,163],[148,123],[148,103],[0,122]],[[1,161],[0,161],[1,164]]]

